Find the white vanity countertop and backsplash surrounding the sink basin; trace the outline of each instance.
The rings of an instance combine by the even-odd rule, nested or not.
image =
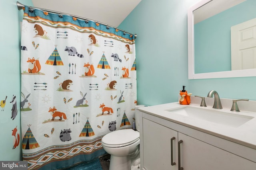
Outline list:
[[[204,107],[204,109],[216,110],[212,108],[213,100],[214,98],[206,98],[207,107]],[[238,127],[231,127],[229,125],[213,123],[211,121],[205,121],[202,119],[197,119],[194,117],[189,117],[177,113],[172,113],[171,111],[167,111],[169,109],[180,108],[184,106],[202,108],[200,107],[201,99],[196,98],[194,96],[191,96],[190,105],[180,105],[179,102],[174,102],[156,106],[140,107],[138,108],[138,110],[148,113],[150,115],[154,115],[172,121],[174,123],[178,123],[180,125],[184,125],[186,127],[190,127],[208,133],[210,135],[214,135],[256,149],[256,109],[254,108],[256,107],[256,101],[239,102],[238,107],[246,109],[240,109],[240,112],[230,111],[232,106],[231,99],[221,99],[221,101],[223,109],[217,110],[224,111],[226,113],[231,113],[234,115],[237,114],[238,116],[250,116],[253,118]],[[253,112],[252,110],[255,110],[255,112]]]

